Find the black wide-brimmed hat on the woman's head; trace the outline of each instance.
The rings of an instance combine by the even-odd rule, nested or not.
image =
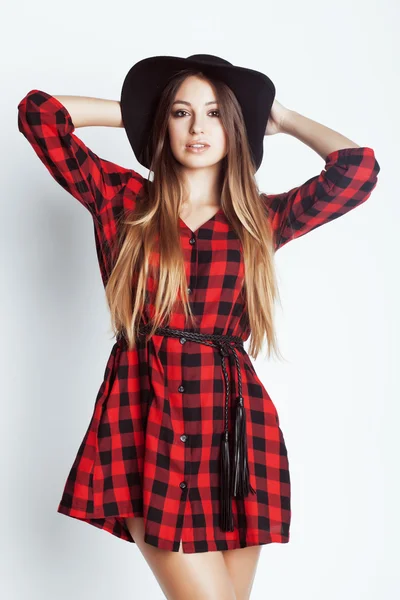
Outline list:
[[[130,145],[138,162],[150,168],[146,148],[161,93],[171,77],[183,69],[197,69],[226,83],[243,113],[256,170],[264,153],[264,135],[275,98],[271,79],[259,71],[238,67],[212,54],[151,56],[131,67],[122,85],[121,115]]]

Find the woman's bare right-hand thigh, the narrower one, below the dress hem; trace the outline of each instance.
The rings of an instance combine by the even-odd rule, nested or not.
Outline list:
[[[261,553],[261,546],[247,546],[222,552],[237,600],[248,600]]]

